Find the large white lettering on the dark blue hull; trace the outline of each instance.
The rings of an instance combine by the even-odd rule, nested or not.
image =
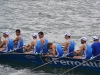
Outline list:
[[[60,65],[68,65],[68,66],[76,66],[79,65],[86,60],[57,60],[58,58],[52,58],[54,64],[60,64]],[[87,63],[82,64],[81,66],[83,67],[95,67],[95,68],[100,68],[100,62],[96,61],[89,61]]]

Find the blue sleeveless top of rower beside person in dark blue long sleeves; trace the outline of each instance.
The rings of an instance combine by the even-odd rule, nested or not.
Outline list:
[[[92,49],[91,46],[86,44],[86,50],[83,51],[84,56],[83,59],[90,59],[92,57]]]

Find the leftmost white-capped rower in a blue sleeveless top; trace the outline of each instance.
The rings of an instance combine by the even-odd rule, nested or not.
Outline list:
[[[9,52],[13,50],[13,40],[9,38],[9,32],[5,31],[3,33],[3,37],[5,38],[0,44],[0,51],[1,52]]]

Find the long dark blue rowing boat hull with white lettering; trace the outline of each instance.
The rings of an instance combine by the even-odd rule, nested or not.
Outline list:
[[[58,59],[58,60],[56,60]],[[48,66],[53,67],[74,67],[77,66],[87,60],[83,59],[73,59],[73,58],[58,58],[58,57],[48,57],[43,55],[35,55],[35,54],[23,54],[23,53],[0,53],[0,60],[7,61],[17,61],[23,63],[32,63],[42,65],[44,63],[48,63],[53,61]],[[81,69],[88,69],[93,71],[100,71],[100,60],[91,60],[79,66]]]

